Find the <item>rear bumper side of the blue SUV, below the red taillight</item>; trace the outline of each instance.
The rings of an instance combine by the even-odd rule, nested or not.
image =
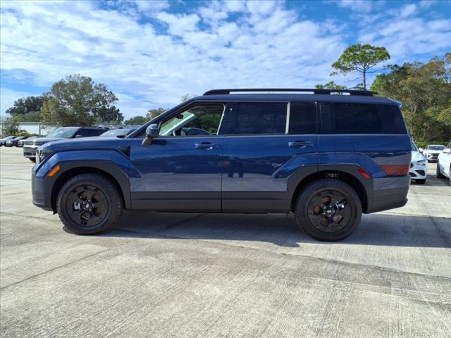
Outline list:
[[[373,196],[366,208],[366,213],[376,213],[405,206],[409,187],[410,175],[374,178]]]

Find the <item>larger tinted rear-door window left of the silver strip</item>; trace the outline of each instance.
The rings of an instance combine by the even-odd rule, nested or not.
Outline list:
[[[285,134],[287,104],[237,102],[228,120],[228,134]]]

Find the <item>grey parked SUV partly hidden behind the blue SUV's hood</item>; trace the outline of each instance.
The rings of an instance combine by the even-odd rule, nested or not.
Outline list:
[[[108,128],[100,127],[61,127],[46,137],[37,137],[30,141],[25,141],[23,146],[23,156],[30,158],[30,161],[36,162],[36,150],[42,144],[51,141],[58,141],[60,139],[76,139],[79,137],[94,137],[99,136],[109,130]]]

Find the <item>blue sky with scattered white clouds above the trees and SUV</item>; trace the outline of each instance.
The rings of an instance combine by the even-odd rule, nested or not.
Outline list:
[[[126,118],[223,87],[313,87],[347,46],[388,63],[451,51],[451,1],[1,1],[3,114],[66,75],[105,83]]]

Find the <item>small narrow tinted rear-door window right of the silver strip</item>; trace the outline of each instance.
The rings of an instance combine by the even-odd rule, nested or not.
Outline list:
[[[290,104],[290,134],[316,134],[316,106],[314,102]]]

